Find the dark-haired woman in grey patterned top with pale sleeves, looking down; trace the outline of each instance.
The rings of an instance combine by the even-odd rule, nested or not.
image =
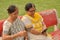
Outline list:
[[[22,21],[17,18],[18,8],[15,5],[11,5],[8,7],[7,11],[9,17],[3,24],[3,40],[24,40],[26,31]]]

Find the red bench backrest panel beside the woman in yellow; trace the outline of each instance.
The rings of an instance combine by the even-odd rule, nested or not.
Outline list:
[[[47,27],[57,24],[57,16],[55,10],[45,10],[40,12],[40,15],[42,15],[44,23]]]

